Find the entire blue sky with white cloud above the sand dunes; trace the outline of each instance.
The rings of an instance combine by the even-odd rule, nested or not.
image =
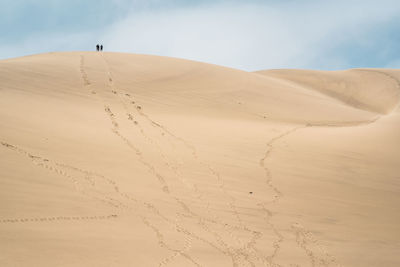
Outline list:
[[[398,0],[0,0],[0,59],[152,54],[255,71],[400,68]]]

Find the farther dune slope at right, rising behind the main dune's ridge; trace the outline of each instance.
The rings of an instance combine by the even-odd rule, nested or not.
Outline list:
[[[294,82],[371,112],[389,114],[400,103],[397,70],[266,70],[256,73]]]

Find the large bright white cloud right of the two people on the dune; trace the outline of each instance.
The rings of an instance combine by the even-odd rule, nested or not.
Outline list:
[[[326,51],[357,41],[370,25],[385,22],[399,9],[395,1],[222,2],[168,12],[135,12],[108,28],[103,39],[111,50],[246,70],[309,67],[319,62],[319,57],[331,60],[332,68],[340,68],[346,66],[346,60],[329,59]]]

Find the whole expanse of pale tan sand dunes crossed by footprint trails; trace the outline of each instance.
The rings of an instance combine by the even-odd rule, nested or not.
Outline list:
[[[0,61],[0,266],[400,266],[399,80]]]

